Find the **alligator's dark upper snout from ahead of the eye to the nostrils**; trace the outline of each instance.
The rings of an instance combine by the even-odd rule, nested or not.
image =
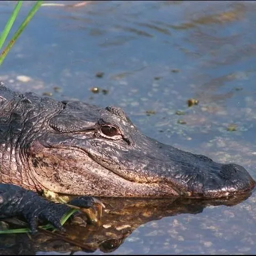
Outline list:
[[[158,183],[165,196],[215,198],[249,191],[255,186],[255,181],[241,165],[217,163],[204,155],[192,154],[147,137],[142,141],[143,146],[139,148],[145,148],[143,155],[130,151],[133,167],[119,175],[138,183]]]

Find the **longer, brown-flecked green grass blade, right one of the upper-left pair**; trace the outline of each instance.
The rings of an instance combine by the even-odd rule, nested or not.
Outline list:
[[[23,31],[23,29],[25,29],[25,27],[28,25],[28,22],[31,20],[31,18],[33,18],[33,16],[35,15],[35,13],[37,12],[37,10],[39,9],[39,7],[41,6],[43,1],[37,1],[36,4],[33,6],[33,8],[30,10],[30,12],[28,13],[27,17],[25,18],[25,20],[23,20],[23,22],[21,23],[20,27],[17,29],[17,31],[14,33],[13,37],[11,38],[10,42],[7,44],[7,46],[5,47],[4,51],[1,53],[0,55],[0,66],[2,65],[7,53],[10,51],[10,49],[12,48],[13,44],[17,41],[17,38],[19,37],[19,35],[21,34],[21,32]]]

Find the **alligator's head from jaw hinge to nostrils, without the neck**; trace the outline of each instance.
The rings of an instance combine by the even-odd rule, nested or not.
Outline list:
[[[39,187],[73,195],[214,198],[255,186],[240,165],[146,137],[121,108],[57,105],[58,113],[41,110],[45,120],[25,150],[29,175]]]

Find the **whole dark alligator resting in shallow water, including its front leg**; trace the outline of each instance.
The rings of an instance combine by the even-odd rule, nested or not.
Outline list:
[[[61,228],[68,210],[44,189],[95,197],[220,198],[251,191],[244,167],[221,164],[139,132],[119,107],[57,101],[0,85],[0,217],[21,215]],[[72,202],[70,202],[72,204]]]

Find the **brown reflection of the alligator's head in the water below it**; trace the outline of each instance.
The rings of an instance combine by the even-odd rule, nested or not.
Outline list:
[[[138,199],[101,198],[106,205],[98,225],[78,223],[75,217],[65,225],[66,232],[39,231],[32,238],[26,234],[1,236],[0,253],[31,254],[40,252],[102,252],[116,250],[142,224],[182,213],[201,213],[210,205],[233,206],[248,198],[242,194],[219,199]]]

